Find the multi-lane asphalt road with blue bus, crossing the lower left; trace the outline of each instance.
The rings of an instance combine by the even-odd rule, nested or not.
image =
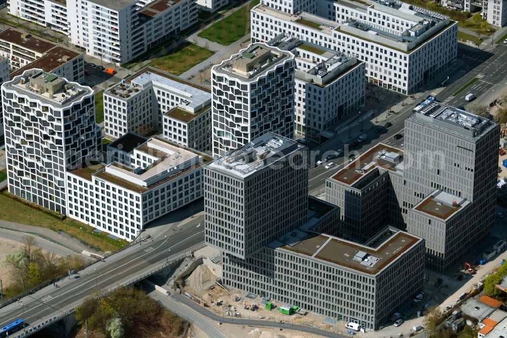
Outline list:
[[[162,240],[134,244],[124,251],[108,257],[105,262],[95,263],[80,275],[57,282],[58,287],[48,286],[33,295],[26,296],[18,303],[12,303],[0,310],[0,326],[22,318],[28,325],[39,324],[43,318],[56,316],[64,310],[79,305],[83,298],[94,290],[109,289],[135,276],[154,269],[164,258],[171,259],[188,252],[202,243],[204,227],[197,227],[192,221],[184,232],[174,232]],[[167,251],[169,250],[169,251]]]

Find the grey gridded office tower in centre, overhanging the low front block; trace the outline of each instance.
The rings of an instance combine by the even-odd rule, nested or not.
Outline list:
[[[269,132],[207,165],[206,244],[245,259],[306,222],[307,152]]]

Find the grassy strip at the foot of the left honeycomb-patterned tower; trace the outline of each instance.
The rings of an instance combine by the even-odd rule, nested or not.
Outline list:
[[[105,232],[95,232],[93,231],[94,228],[89,225],[70,218],[60,221],[40,210],[38,206],[26,206],[10,198],[7,190],[0,193],[0,219],[40,226],[53,231],[62,230],[104,252],[116,251],[127,244],[127,241],[109,238]]]

